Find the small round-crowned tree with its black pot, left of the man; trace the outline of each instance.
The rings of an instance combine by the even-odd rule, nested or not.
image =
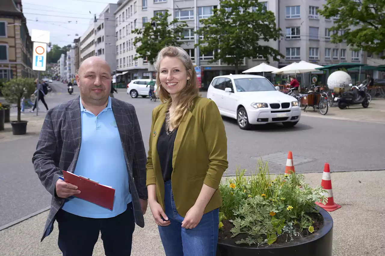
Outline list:
[[[9,103],[17,104],[17,121],[11,121],[13,135],[27,133],[28,121],[21,120],[21,100],[35,91],[33,78],[12,78],[3,85],[3,95]]]

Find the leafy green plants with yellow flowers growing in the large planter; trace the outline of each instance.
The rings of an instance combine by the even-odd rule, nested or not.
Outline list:
[[[247,234],[236,243],[272,244],[283,234],[287,241],[298,235],[296,226],[311,232],[313,220],[308,214],[318,212],[315,202],[327,202],[321,186],[309,187],[297,173],[273,178],[262,161],[249,178],[245,172],[237,170],[235,178],[226,178],[219,185],[223,199],[219,216],[234,224],[232,237]]]

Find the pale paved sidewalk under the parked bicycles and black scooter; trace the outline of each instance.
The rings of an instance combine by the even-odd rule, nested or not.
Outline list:
[[[310,107],[306,108],[306,111],[302,111],[301,115],[338,120],[385,123],[385,99],[374,98],[369,103],[368,108],[363,108],[362,105],[354,105],[341,110],[336,104],[333,104],[333,107],[329,107],[326,115],[321,115],[317,110],[313,112],[313,108]]]

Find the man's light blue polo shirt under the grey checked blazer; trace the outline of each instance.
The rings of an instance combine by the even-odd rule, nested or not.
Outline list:
[[[80,100],[80,99],[79,99]],[[62,209],[88,218],[111,218],[127,209],[131,202],[129,176],[124,158],[121,138],[112,112],[111,98],[107,107],[95,116],[86,110],[80,100],[82,142],[74,173],[115,189],[114,207],[98,206],[71,196]]]

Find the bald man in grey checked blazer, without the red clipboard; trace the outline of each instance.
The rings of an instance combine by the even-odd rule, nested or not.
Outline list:
[[[111,70],[99,57],[84,60],[76,81],[80,97],[48,111],[32,157],[52,194],[41,241],[56,220],[64,256],[91,256],[99,232],[107,256],[130,255],[135,223],[144,227],[147,209],[147,157],[135,108],[109,96]],[[81,191],[59,178],[62,170],[112,186],[113,209],[77,198]]]

